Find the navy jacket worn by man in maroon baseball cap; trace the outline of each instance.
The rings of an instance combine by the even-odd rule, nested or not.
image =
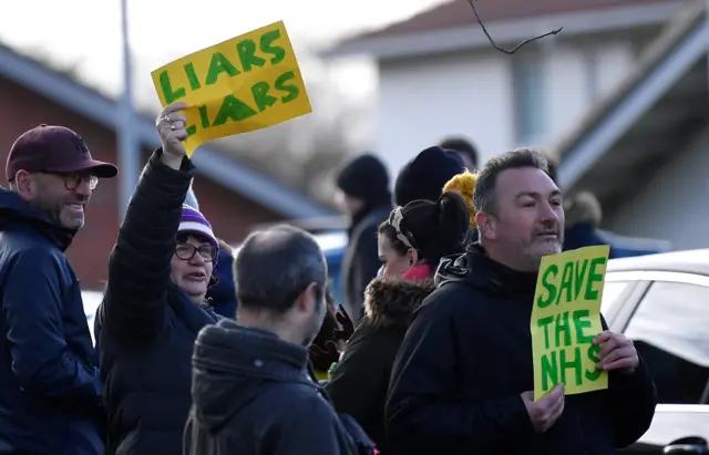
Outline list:
[[[0,454],[103,454],[102,384],[66,230],[0,189]]]

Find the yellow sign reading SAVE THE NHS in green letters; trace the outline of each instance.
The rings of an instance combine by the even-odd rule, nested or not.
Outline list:
[[[564,383],[567,395],[608,389],[599,371],[600,298],[610,247],[586,247],[542,259],[532,310],[534,400]]]

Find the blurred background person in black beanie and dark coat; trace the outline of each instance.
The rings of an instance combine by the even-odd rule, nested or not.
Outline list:
[[[364,288],[377,277],[377,227],[391,211],[389,172],[373,155],[349,162],[337,177],[338,205],[350,216],[342,260],[345,309],[357,322],[363,316]]]

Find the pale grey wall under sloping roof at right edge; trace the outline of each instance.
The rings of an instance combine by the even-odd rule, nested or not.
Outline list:
[[[627,201],[608,230],[667,239],[675,250],[707,248],[709,236],[709,127]]]

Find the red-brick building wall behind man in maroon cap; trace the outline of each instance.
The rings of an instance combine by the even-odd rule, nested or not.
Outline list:
[[[114,132],[0,77],[0,163],[4,164],[12,143],[20,134],[41,123],[60,124],[76,131],[94,158],[116,162]],[[1,180],[4,186],[4,176]],[[213,223],[215,232],[228,242],[242,240],[255,224],[280,219],[277,214],[210,182],[204,175],[198,175],[194,185],[202,210]],[[117,227],[117,179],[103,180],[91,198],[86,225],[66,252],[82,288],[102,288]]]

